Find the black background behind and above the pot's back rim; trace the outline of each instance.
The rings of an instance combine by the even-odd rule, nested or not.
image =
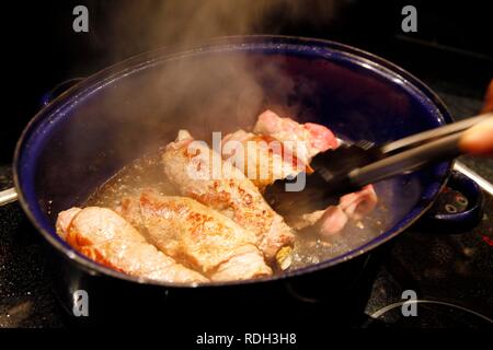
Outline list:
[[[159,21],[174,21],[186,32],[193,26],[187,13],[207,1],[168,1],[185,4],[182,19],[174,13],[158,16],[157,9],[163,2],[167,0],[4,1],[0,20],[4,89],[0,163],[11,162],[15,141],[45,92],[69,78],[87,77],[135,54],[175,44],[180,35],[153,33],[150,37],[149,27]],[[188,39],[255,33],[340,40],[383,56],[419,78],[463,83],[461,93],[466,96],[481,95],[493,77],[493,20],[486,1],[279,1],[255,14],[248,30],[234,24],[241,19],[242,7],[251,2],[229,3],[233,4],[230,14],[223,10],[220,20],[226,18],[231,25],[223,24],[215,32],[195,30]],[[89,8],[88,34],[72,31],[77,4]],[[401,31],[404,4],[417,9],[417,33]]]

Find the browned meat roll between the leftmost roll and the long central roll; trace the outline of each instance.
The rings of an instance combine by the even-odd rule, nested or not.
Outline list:
[[[144,191],[124,199],[122,214],[161,252],[211,281],[272,275],[253,233],[191,198]]]

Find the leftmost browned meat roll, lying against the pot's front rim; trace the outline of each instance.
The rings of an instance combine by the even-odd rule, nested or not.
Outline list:
[[[90,207],[62,211],[57,233],[92,260],[135,277],[196,283],[208,279],[159,252],[116,212]]]

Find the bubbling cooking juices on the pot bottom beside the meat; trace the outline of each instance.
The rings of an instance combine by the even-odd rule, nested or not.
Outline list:
[[[123,198],[138,196],[147,189],[152,189],[162,196],[177,196],[176,189],[165,178],[161,154],[162,150],[159,150],[122,168],[98,188],[84,206],[118,210]],[[387,228],[388,217],[386,200],[379,199],[371,214],[360,220],[348,220],[341,232],[329,237],[320,237],[313,226],[297,230],[293,264],[288,270],[339,256],[381,234]]]

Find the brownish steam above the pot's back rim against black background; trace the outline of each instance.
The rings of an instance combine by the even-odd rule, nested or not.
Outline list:
[[[344,5],[344,1],[333,0],[122,1],[100,28],[98,45],[113,60],[122,60],[152,48],[210,37],[279,34],[291,25],[325,26]]]

